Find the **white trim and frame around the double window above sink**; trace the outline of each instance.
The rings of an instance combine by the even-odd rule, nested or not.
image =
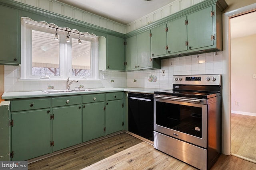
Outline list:
[[[29,25],[36,25],[39,27],[49,28],[49,24],[46,22],[36,22],[31,20],[30,18],[22,18],[21,21],[21,64],[20,64],[20,79],[19,80],[44,80],[38,76],[32,76],[30,68],[32,66],[32,29],[30,29]],[[51,24],[51,26],[58,27],[54,24]],[[45,30],[44,30],[45,31]],[[53,30],[54,31],[54,30]],[[77,31],[77,30],[72,30]],[[78,32],[78,31],[77,31]],[[78,32],[81,33],[81,32]],[[71,45],[68,45],[65,41],[66,39],[66,31],[58,30],[58,34],[60,36],[60,50],[59,55],[64,56],[65,59],[61,59],[60,57],[60,75],[59,76],[51,76],[50,78],[47,78],[46,80],[66,80],[68,77],[70,79],[80,79],[80,77],[72,76],[72,68],[71,64],[65,64],[65,63],[71,63],[71,57],[68,59],[68,55],[71,56]],[[96,35],[90,35],[89,33],[81,33],[86,35],[87,39],[90,39],[92,42],[92,50],[91,50],[91,76],[87,77],[88,80],[98,80],[99,79],[99,66],[98,66],[98,55],[99,55],[99,40],[98,36]],[[80,39],[83,39],[84,37],[80,36]],[[62,47],[61,47],[62,46]],[[64,46],[64,47],[63,47]],[[69,54],[68,54],[69,53]],[[29,56],[29,57],[27,57]],[[92,57],[93,56],[93,57]],[[29,69],[26,69],[28,68]],[[84,78],[82,78],[84,79]]]

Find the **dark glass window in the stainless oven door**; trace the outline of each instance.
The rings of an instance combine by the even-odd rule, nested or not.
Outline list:
[[[202,138],[202,107],[156,102],[156,124]]]

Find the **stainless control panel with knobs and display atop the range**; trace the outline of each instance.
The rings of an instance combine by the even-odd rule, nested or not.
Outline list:
[[[221,74],[174,75],[172,84],[221,85]]]

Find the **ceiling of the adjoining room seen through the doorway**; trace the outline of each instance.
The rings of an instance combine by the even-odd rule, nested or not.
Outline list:
[[[230,38],[256,34],[256,12],[251,12],[230,19]]]

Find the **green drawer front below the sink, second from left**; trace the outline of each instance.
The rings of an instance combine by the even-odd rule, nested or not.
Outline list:
[[[81,104],[81,103],[82,103],[81,96],[52,98],[52,107],[69,106],[69,105]]]

